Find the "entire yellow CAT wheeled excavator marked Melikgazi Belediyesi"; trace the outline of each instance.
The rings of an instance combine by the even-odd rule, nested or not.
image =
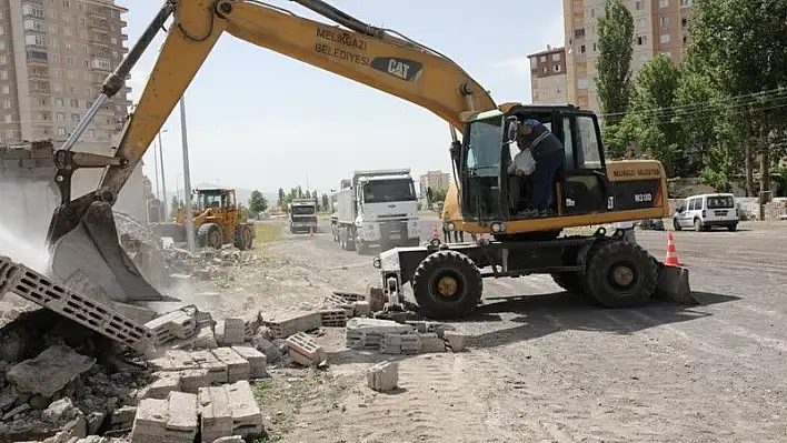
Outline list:
[[[562,229],[668,215],[657,161],[608,162],[596,114],[574,105],[498,105],[448,57],[396,31],[369,26],[322,0],[292,0],[333,21],[326,24],[257,0],[168,0],[109,74],[93,105],[54,153],[61,205],[48,234],[52,272],[86,275],[117,301],[163,296],[146,282],[117,241],[111,205],[176,103],[225,33],[424,107],[450,127],[460,229],[491,234],[475,243],[396,248],[373,261],[391,305],[410,283],[421,312],[461,318],[482,300],[482,278],[549,273],[569,291],[612,308],[642,305],[667,272],[617,232],[560,236]],[[114,95],[159,30],[173,20],[142,95],[111,157],[73,152],[101,104]],[[554,215],[521,219],[508,204],[507,165],[520,122],[537,119],[564,143]],[[459,133],[458,133],[459,132]],[[459,137],[461,134],[461,138]],[[104,168],[94,192],[71,199],[70,174]],[[452,199],[452,200],[451,200]],[[438,242],[439,243],[439,242]],[[481,269],[490,272],[481,273]],[[669,270],[673,270],[671,268]],[[680,275],[687,280],[687,274]],[[676,279],[669,279],[674,282]],[[673,284],[673,288],[678,288]],[[683,286],[681,286],[683,288]]]

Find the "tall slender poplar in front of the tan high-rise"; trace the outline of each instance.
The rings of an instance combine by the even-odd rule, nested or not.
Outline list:
[[[606,124],[615,124],[628,110],[631,91],[634,18],[622,0],[607,0],[597,22],[596,89]],[[611,115],[608,115],[611,114]]]

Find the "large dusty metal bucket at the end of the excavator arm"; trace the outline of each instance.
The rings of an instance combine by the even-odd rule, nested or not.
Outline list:
[[[120,246],[112,207],[94,202],[51,248],[49,266],[63,282],[87,280],[120,303],[179,301],[156,290]]]

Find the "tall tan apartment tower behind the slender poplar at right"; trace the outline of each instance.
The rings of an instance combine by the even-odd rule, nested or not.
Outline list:
[[[567,100],[599,112],[594,78],[598,59],[596,21],[605,0],[564,0]],[[627,0],[634,17],[634,74],[657,53],[680,62],[688,39],[691,0]]]

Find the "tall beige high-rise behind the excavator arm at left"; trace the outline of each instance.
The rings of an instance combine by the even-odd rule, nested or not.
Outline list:
[[[127,11],[114,0],[0,1],[0,142],[49,139],[59,148],[128,52]],[[131,104],[129,91],[102,105],[74,150],[112,154]],[[93,190],[100,175],[101,170],[78,171],[73,197]],[[145,217],[141,179],[139,168],[118,204]]]

